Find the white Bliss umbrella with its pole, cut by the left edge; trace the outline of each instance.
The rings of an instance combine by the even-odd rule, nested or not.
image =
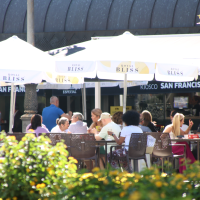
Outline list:
[[[10,125],[14,119],[14,84],[40,83],[42,80],[56,83],[55,60],[52,56],[13,36],[0,42],[0,83],[11,84]]]

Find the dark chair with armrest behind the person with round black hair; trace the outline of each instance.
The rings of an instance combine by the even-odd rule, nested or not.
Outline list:
[[[126,145],[115,145],[110,147],[110,163],[112,162],[112,159],[118,160],[118,165],[120,166],[120,160],[126,160],[127,163],[129,163],[129,160],[140,160],[144,159],[146,166],[147,160],[146,160],[146,146],[147,146],[147,135],[143,133],[132,133],[129,141],[129,150],[125,157],[120,156],[113,156],[112,155],[112,148],[118,149],[119,147],[125,147]],[[128,164],[128,171],[131,172],[130,166]]]

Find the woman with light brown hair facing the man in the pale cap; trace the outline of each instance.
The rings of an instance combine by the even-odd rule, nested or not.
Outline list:
[[[90,125],[90,128],[88,129],[88,133],[91,133],[91,130],[94,128],[97,129],[97,132],[99,132],[102,129],[103,124],[101,120],[98,121],[100,119],[101,113],[102,113],[102,110],[99,108],[95,108],[91,111],[92,124]]]

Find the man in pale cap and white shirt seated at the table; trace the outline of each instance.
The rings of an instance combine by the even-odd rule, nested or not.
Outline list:
[[[112,135],[108,135],[108,132],[111,131],[113,132],[113,134],[115,134],[117,137],[119,136],[119,133],[121,132],[121,128],[112,121],[111,119],[111,115],[110,113],[104,112],[101,114],[101,118],[99,119],[99,121],[101,120],[102,124],[103,124],[103,128],[101,129],[101,131],[98,133],[96,129],[92,129],[92,133],[95,134],[95,139],[96,140],[114,140]],[[107,150],[108,152],[110,152],[110,146],[112,145],[107,145]]]

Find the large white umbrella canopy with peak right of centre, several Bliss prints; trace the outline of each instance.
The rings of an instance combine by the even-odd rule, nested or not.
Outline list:
[[[185,37],[177,41],[181,40],[184,43],[187,39],[188,37]],[[94,73],[96,70],[100,79],[110,80],[124,80],[124,74],[127,74],[127,80],[136,81],[152,80],[154,74],[156,80],[170,82],[197,79],[198,63],[191,60],[185,62],[183,55],[186,54],[177,51],[181,42],[177,42],[174,48],[173,41],[175,41],[173,37],[138,37],[125,32],[109,40],[80,43],[75,48],[83,50],[73,55],[65,56],[66,54],[63,55],[61,51],[56,55],[56,66],[59,72],[67,73],[72,71],[72,66],[77,65],[79,70],[73,72],[77,75],[82,72]],[[192,44],[194,42],[190,46]],[[185,45],[185,49],[187,47]],[[169,53],[173,48],[175,50]],[[189,55],[192,59],[192,54]]]

